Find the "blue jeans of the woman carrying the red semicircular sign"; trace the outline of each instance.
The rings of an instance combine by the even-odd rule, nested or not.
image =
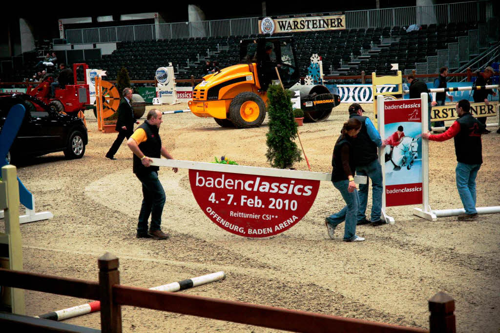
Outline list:
[[[332,182],[333,186],[340,191],[342,198],[344,199],[347,206],[342,208],[340,212],[332,214],[326,218],[329,224],[336,227],[345,220],[344,228],[344,240],[350,240],[356,235],[356,212],[359,206],[359,197],[357,196],[357,190],[353,192],[348,192],[349,187],[348,180],[340,180],[338,182]]]

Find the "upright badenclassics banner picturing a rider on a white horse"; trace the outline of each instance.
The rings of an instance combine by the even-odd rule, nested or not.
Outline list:
[[[385,206],[422,203],[420,99],[384,101]]]

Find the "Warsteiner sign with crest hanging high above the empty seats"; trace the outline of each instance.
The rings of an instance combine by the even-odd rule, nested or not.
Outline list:
[[[260,33],[344,30],[343,12],[267,16],[258,20]]]

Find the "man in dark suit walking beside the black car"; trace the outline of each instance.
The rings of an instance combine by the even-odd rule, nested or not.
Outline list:
[[[133,123],[139,123],[138,121],[135,121],[135,118],[133,117],[132,89],[123,89],[123,98],[121,99],[116,112],[118,112],[118,120],[116,121],[116,127],[114,129],[118,131],[118,136],[111,145],[111,148],[109,148],[109,151],[106,153],[106,157],[110,160],[116,159],[113,156],[118,151],[123,139],[127,138],[128,140],[130,135],[132,135]]]

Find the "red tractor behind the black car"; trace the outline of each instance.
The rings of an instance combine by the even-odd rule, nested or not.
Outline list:
[[[83,72],[88,68],[86,63],[73,64],[74,82],[76,82],[76,69],[83,67]],[[86,76],[85,76],[86,78]],[[53,77],[48,77],[45,81],[36,87],[28,85],[26,93],[32,97],[42,100],[57,112],[64,112],[77,116],[79,111],[84,111],[85,106],[90,103],[88,84],[66,84],[64,88],[55,88],[55,97],[51,97],[50,83],[54,81]],[[86,80],[85,80],[86,81]],[[86,82],[85,82],[86,83]]]

